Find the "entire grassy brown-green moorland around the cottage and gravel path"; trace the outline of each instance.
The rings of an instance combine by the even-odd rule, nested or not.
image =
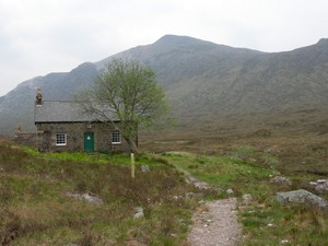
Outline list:
[[[143,132],[136,179],[125,154],[38,153],[1,140],[0,236],[12,236],[2,245],[188,245],[192,212],[202,201],[227,198],[229,188],[238,200],[238,245],[325,245],[327,211],[276,200],[279,191],[300,188],[328,198],[308,185],[328,176],[323,114],[251,115]],[[213,190],[188,184],[175,166]],[[281,176],[290,183],[272,181]],[[92,194],[102,203],[67,192]],[[133,219],[138,208],[144,215]]]

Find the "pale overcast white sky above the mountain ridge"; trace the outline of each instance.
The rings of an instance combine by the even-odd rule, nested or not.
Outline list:
[[[166,34],[261,51],[328,37],[327,0],[0,0],[0,96]]]

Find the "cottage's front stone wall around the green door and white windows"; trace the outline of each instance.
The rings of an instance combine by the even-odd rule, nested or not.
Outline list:
[[[63,152],[84,151],[84,133],[94,133],[94,150],[103,152],[129,152],[128,143],[112,143],[112,132],[117,131],[114,126],[102,122],[61,122],[36,124],[37,148],[39,151]],[[67,134],[67,144],[57,145],[57,133]]]

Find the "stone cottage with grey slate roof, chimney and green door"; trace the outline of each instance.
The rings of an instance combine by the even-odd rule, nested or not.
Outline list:
[[[112,122],[83,114],[77,102],[43,101],[40,89],[37,90],[34,121],[39,151],[129,151],[128,143]]]

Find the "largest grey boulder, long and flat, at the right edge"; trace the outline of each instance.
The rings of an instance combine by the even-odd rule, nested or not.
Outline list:
[[[313,204],[321,209],[328,209],[328,202],[325,199],[304,189],[293,190],[289,192],[278,192],[276,198],[282,204],[296,202]]]

